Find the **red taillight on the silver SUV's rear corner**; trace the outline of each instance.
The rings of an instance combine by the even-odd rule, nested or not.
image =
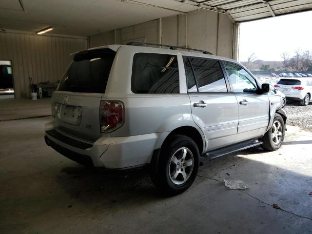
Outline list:
[[[102,133],[111,133],[122,126],[123,110],[121,101],[101,101],[100,124]]]

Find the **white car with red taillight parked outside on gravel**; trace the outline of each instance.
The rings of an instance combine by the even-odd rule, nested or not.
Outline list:
[[[311,78],[281,78],[275,85],[286,100],[300,101],[302,106],[309,105],[312,97]]]

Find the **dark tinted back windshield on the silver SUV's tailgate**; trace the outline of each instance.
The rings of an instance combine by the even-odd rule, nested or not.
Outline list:
[[[63,78],[59,91],[105,93],[116,52],[111,49],[90,50],[75,55]]]

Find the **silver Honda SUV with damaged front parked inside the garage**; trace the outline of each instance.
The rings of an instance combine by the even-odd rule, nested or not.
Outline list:
[[[232,59],[136,46],[143,44],[155,46],[132,42],[72,55],[52,97],[48,146],[94,167],[149,166],[153,182],[170,194],[188,189],[205,160],[281,147],[287,117],[273,86]]]

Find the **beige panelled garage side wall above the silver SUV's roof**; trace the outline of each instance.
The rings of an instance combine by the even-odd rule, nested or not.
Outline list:
[[[232,58],[233,22],[226,14],[199,10],[91,36],[90,47],[131,40],[186,46]]]

